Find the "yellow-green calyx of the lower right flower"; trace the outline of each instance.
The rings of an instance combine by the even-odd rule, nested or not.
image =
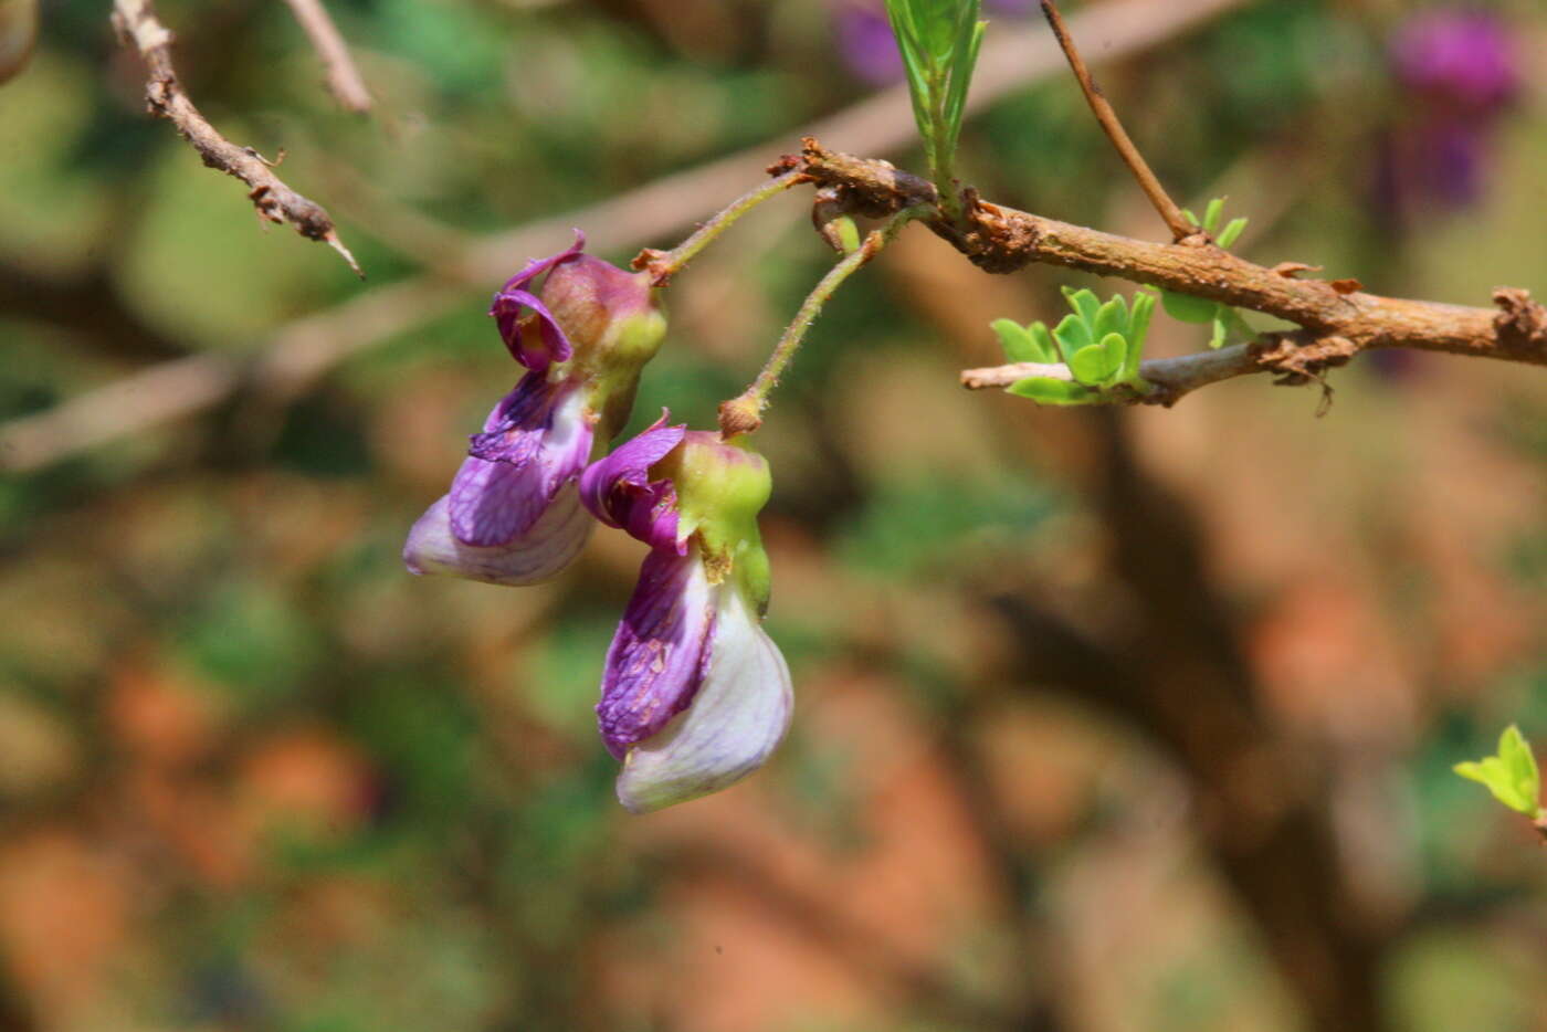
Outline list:
[[[710,582],[735,577],[761,611],[769,599],[769,560],[758,512],[774,492],[769,464],[746,436],[721,441],[695,430],[651,469],[670,477],[678,495],[678,532],[695,535]]]

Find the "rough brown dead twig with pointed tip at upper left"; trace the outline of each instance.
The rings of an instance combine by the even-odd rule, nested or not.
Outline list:
[[[150,0],[113,0],[113,25],[125,43],[133,43],[150,73],[145,79],[145,102],[150,113],[176,125],[183,139],[193,145],[210,169],[232,175],[248,184],[248,200],[258,215],[271,223],[289,223],[302,237],[320,240],[350,263],[364,279],[359,263],[339,240],[333,218],[320,204],[289,189],[269,162],[251,147],[238,147],[193,107],[183,91],[172,65],[172,32],[156,17]]]

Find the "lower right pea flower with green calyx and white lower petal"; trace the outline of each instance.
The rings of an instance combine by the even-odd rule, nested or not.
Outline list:
[[[789,665],[763,630],[769,563],[756,514],[767,463],[667,416],[586,469],[585,506],[650,545],[606,651],[597,724],[644,814],[716,792],[789,729]]]

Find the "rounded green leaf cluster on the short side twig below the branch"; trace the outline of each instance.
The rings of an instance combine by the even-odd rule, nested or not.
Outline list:
[[[1063,362],[1074,379],[1029,376],[1006,390],[1044,405],[1095,404],[1103,391],[1120,384],[1145,391],[1148,385],[1139,378],[1139,362],[1156,306],[1154,294],[1134,294],[1132,306],[1122,294],[1105,305],[1086,289],[1064,288],[1064,297],[1074,311],[1052,330],[1043,322],[1023,326],[998,319],[993,331],[1010,362]]]

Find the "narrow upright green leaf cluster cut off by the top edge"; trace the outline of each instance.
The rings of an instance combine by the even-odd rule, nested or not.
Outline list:
[[[886,0],[891,31],[902,51],[902,67],[913,97],[913,118],[924,136],[930,176],[942,204],[954,206],[951,186],[956,141],[967,110],[987,22],[978,19],[981,0]]]

